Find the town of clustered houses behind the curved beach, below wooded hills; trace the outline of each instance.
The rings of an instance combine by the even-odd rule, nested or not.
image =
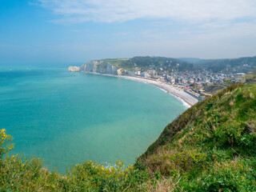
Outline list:
[[[128,75],[138,78],[146,78],[156,82],[162,82],[179,89],[187,94],[202,100],[211,94],[207,93],[207,86],[221,85],[228,86],[230,82],[242,81],[244,73],[214,73],[210,70],[172,71],[171,73],[161,67],[157,70],[146,70],[135,67],[134,70],[118,70],[118,75]]]

